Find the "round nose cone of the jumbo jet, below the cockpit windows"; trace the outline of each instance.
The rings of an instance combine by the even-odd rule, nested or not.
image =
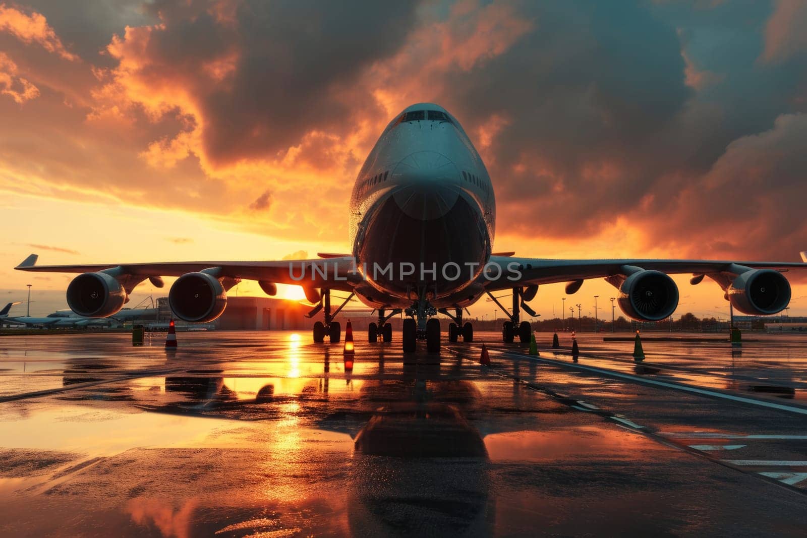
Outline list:
[[[412,219],[439,219],[459,198],[459,170],[441,153],[412,153],[395,166],[392,177],[400,185],[395,202]]]

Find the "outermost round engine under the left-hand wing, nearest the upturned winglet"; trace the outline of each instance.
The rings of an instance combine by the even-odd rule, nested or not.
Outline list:
[[[107,273],[83,273],[67,286],[67,306],[86,318],[106,318],[126,302],[126,290]]]

